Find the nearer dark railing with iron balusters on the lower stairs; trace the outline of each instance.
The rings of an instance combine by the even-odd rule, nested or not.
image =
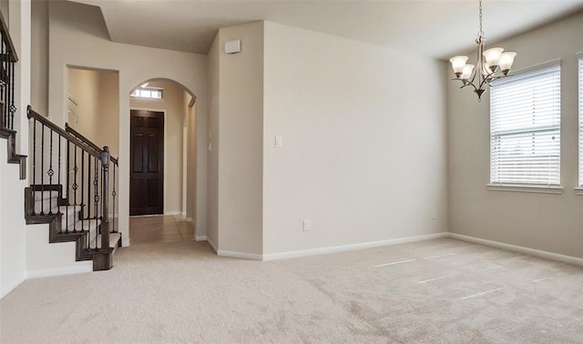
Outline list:
[[[87,251],[99,254],[109,251],[108,228],[108,147],[95,149],[74,135],[56,126],[31,106],[27,116],[32,119],[32,169],[30,192],[26,204],[27,216],[63,216],[64,230],[59,234],[87,232]],[[115,183],[114,183],[115,184]],[[34,194],[41,192],[40,204]],[[49,196],[46,199],[46,192]],[[52,195],[57,193],[56,201]],[[95,228],[95,240],[91,236]],[[101,241],[98,241],[99,232]],[[100,245],[99,245],[100,244]],[[94,269],[95,269],[94,258]],[[110,267],[109,267],[110,268]]]

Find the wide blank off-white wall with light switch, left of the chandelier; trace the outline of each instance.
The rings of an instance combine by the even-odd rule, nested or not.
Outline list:
[[[442,62],[266,22],[264,68],[264,254],[447,230]]]

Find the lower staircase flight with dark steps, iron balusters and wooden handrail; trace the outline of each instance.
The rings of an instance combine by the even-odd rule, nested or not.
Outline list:
[[[61,129],[30,106],[27,116],[33,137],[26,224],[48,224],[51,244],[75,242],[75,260],[92,260],[94,271],[111,268],[121,246],[115,216],[109,221],[110,197],[116,213],[118,159],[107,147],[97,147],[68,126]]]

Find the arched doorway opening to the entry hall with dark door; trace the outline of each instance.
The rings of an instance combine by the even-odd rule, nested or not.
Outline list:
[[[194,239],[196,96],[145,80],[130,94],[129,236],[133,244]]]

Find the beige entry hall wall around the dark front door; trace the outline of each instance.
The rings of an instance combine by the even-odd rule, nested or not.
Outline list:
[[[165,113],[164,213],[179,215],[182,214],[184,189],[182,186],[183,126],[186,116],[184,90],[182,86],[169,81],[152,81],[148,83],[148,86],[164,88],[164,99],[150,100],[131,97],[129,106],[131,109],[159,110]],[[129,132],[126,135],[129,136]]]

